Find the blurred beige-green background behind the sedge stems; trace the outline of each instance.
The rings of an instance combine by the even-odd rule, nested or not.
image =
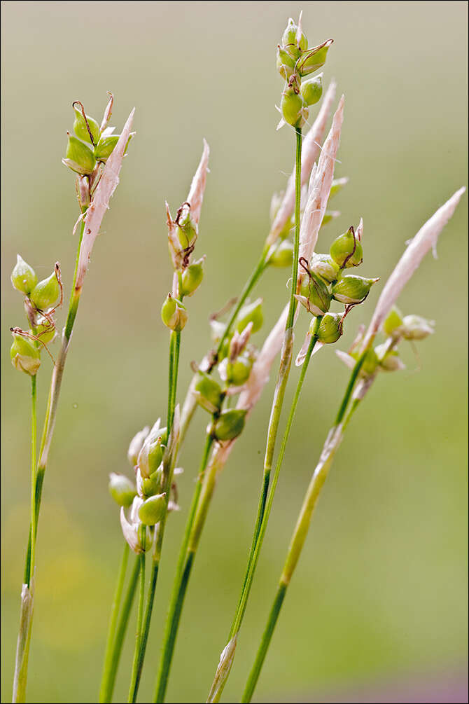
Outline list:
[[[165,415],[168,335],[159,311],[170,268],[164,201],[174,211],[185,199],[206,137],[211,174],[197,245],[199,255],[207,254],[206,275],[188,305],[182,398],[190,361],[207,349],[207,316],[240,291],[269,227],[271,194],[291,169],[293,135],[275,130],[282,89],[275,49],[288,16],[300,9],[311,44],[334,37],[324,78],[335,77],[346,97],[336,173],[350,183],[334,202],[342,216],[324,228],[320,249],[362,215],[363,272],[385,278],[404,241],[467,183],[467,4],[1,4],[4,701],[11,696],[27,539],[30,432],[29,380],[13,370],[8,354],[8,328],[24,325],[9,275],[20,252],[39,277],[59,260],[70,286],[77,203],[74,177],[60,158],[72,128],[71,103],[80,99],[88,113],[101,115],[112,90],[112,124],[120,128],[136,106],[138,134],[86,278],[46,474],[28,690],[34,702],[96,701],[122,550],[108,472],[129,472],[129,439]],[[466,215],[464,196],[442,236],[439,259],[428,257],[401,296],[404,312],[435,319],[437,332],[418,347],[420,373],[413,373],[418,363],[409,350],[407,370],[380,377],[349,429],[285,601],[259,701],[314,701],[338,688],[347,701],[347,691],[367,683],[379,689],[380,682],[425,679],[430,672],[451,679],[449,673],[463,670]],[[265,301],[264,332],[285,302],[287,278],[284,270],[269,272],[256,291]],[[378,287],[349,318],[342,349],[369,319]],[[302,315],[297,346],[306,325]],[[41,409],[51,367],[43,358]],[[347,378],[332,350],[314,358],[226,701],[240,696]],[[214,496],[177,643],[171,702],[205,701],[229,631],[255,517],[273,382]],[[141,701],[153,691],[206,422],[198,413],[181,456],[182,510],[169,522]],[[131,640],[117,701],[127,696]]]

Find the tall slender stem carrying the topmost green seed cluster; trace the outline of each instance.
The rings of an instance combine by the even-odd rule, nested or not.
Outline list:
[[[298,258],[300,253],[300,200],[301,200],[301,153],[302,153],[302,131],[300,128],[295,130],[296,133],[296,149],[295,149],[295,239],[293,242],[293,264],[292,264],[292,275],[291,275],[291,289],[290,289],[290,301],[288,306],[288,315],[285,325],[285,337],[283,338],[283,346],[281,351],[280,367],[278,370],[278,378],[276,383],[276,388],[274,391],[274,400],[272,402],[271,415],[269,419],[269,429],[267,431],[267,441],[266,441],[266,453],[264,457],[264,472],[262,475],[262,485],[259,494],[259,504],[257,508],[257,517],[254,527],[254,532],[252,536],[252,543],[250,548],[250,554],[248,557],[248,567],[245,574],[245,579],[243,582],[243,589],[241,591],[240,601],[238,602],[238,608],[236,610],[236,615],[233,620],[233,625],[231,627],[229,644],[236,644],[236,634],[238,633],[240,623],[243,620],[243,614],[245,611],[245,606],[247,603],[247,597],[250,590],[251,581],[248,575],[251,574],[252,566],[255,565],[257,561],[256,549],[259,540],[259,533],[261,531],[262,522],[264,520],[264,513],[266,511],[267,505],[267,494],[269,491],[271,467],[274,459],[274,451],[276,445],[276,437],[278,433],[278,425],[280,422],[281,411],[283,408],[283,399],[285,398],[285,389],[288,382],[288,376],[290,374],[290,366],[292,362],[292,352],[293,352],[293,325],[295,322],[295,311],[297,308],[297,301],[295,298],[296,293],[296,283],[298,277]],[[303,372],[305,373],[303,365]],[[252,571],[253,574],[253,571]],[[228,648],[228,646],[227,646]],[[219,666],[217,667],[217,672],[212,683],[212,688],[210,689],[209,702],[218,702],[223,692],[226,680],[229,677],[229,672],[231,670],[231,665],[234,659],[234,648],[225,648],[224,653],[229,653],[230,662],[226,665],[224,662],[224,655],[222,654]],[[226,656],[228,657],[228,656]]]

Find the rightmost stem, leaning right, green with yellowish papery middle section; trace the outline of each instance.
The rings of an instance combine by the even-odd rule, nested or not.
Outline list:
[[[306,536],[308,534],[309,524],[311,523],[311,516],[316,506],[316,502],[319,494],[321,493],[323,484],[326,482],[326,477],[330,470],[330,466],[333,463],[335,453],[342,442],[345,428],[349,424],[352,415],[354,414],[356,408],[358,408],[361,401],[360,398],[354,398],[354,401],[352,401],[352,406],[350,406],[347,415],[345,415],[352,396],[356,377],[358,376],[361,365],[364,361],[364,356],[365,353],[361,355],[354,367],[354,370],[352,371],[347,390],[345,391],[345,396],[339,408],[337,416],[339,420],[336,420],[335,425],[328,433],[326,442],[323,446],[323,451],[321,452],[321,458],[319,459],[319,463],[316,465],[313,476],[311,477],[311,482],[309,482],[307,493],[304,496],[302,508],[300,510],[300,514],[298,515],[295,530],[293,531],[290,546],[288,547],[288,552],[283,565],[281,577],[278,582],[274,603],[272,604],[269,617],[267,619],[267,624],[264,629],[264,634],[262,635],[259,649],[257,650],[255,662],[252,665],[252,670],[248,677],[243,698],[241,698],[241,702],[243,704],[250,702],[252,694],[254,693],[257,680],[259,679],[259,674],[262,670],[262,665],[264,664],[264,660],[266,658],[267,650],[269,649],[272,635],[274,634],[274,629],[278,620],[278,615],[280,614],[282,608],[288,585],[290,584],[290,580],[304,546],[304,541],[306,540]]]

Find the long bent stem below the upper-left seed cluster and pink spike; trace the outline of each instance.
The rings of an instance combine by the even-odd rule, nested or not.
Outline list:
[[[82,210],[82,214],[86,209]],[[68,306],[67,322],[62,336],[62,345],[58,353],[56,363],[53,366],[51,386],[49,389],[49,397],[47,400],[46,417],[44,418],[44,427],[41,436],[41,445],[39,447],[39,460],[37,470],[34,474],[34,508],[32,508],[30,534],[28,537],[26,560],[25,560],[25,585],[23,585],[20,610],[20,631],[18,632],[18,642],[16,647],[15,674],[13,677],[13,702],[25,700],[26,684],[27,684],[27,665],[29,659],[32,616],[34,611],[34,586],[32,586],[32,577],[34,575],[34,553],[37,541],[37,524],[39,522],[39,510],[41,508],[42,484],[44,482],[44,474],[46,472],[47,463],[49,461],[49,451],[53,437],[54,427],[56,425],[56,415],[58,408],[58,398],[60,396],[60,386],[62,384],[63,370],[65,360],[67,358],[68,346],[70,337],[77,315],[79,298],[82,289],[76,288],[77,270],[79,261],[79,251],[82,245],[84,234],[84,220],[80,228],[79,243],[77,249],[77,259],[75,262],[75,272],[73,275],[72,291],[70,293],[70,302]],[[27,598],[25,599],[25,587],[27,590]]]

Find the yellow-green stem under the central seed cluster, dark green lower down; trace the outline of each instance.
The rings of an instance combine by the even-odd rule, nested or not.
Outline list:
[[[195,558],[198,536],[200,536],[203,523],[205,522],[207,508],[205,508],[205,510],[204,508],[201,508],[201,505],[204,503],[202,501],[203,497],[201,494],[203,488],[205,487],[205,470],[207,469],[207,463],[210,457],[210,449],[212,448],[213,441],[214,439],[212,434],[207,433],[198,479],[195,484],[191,508],[189,509],[186,528],[184,530],[184,537],[179,550],[179,558],[176,566],[176,574],[174,577],[172,594],[169,602],[169,612],[165,626],[165,635],[163,636],[162,655],[156,685],[155,701],[162,701],[165,698],[169,670],[171,668],[174,646],[176,644],[179,620],[181,618],[181,611],[184,604],[184,596],[186,595],[188,580],[191,574],[193,560]],[[212,492],[210,492],[210,496],[205,493],[205,507],[207,507],[208,502],[210,502],[211,496]]]

